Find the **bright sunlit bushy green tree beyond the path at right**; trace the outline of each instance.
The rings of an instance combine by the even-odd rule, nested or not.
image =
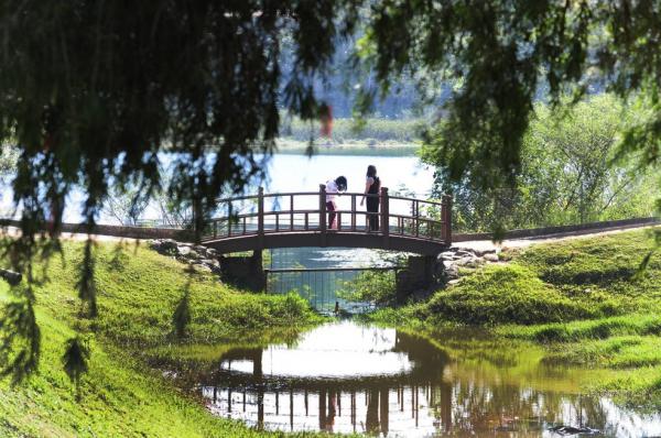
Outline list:
[[[638,172],[631,157],[614,164],[621,133],[640,113],[613,96],[592,97],[560,116],[541,106],[538,113],[523,142],[531,158],[537,157],[530,173],[538,175],[537,182],[544,178],[539,186],[554,193],[557,218],[551,221],[602,219],[626,204],[649,177]],[[532,189],[537,182],[530,180]]]

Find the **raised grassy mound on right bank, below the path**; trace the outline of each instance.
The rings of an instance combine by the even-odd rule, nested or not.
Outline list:
[[[653,245],[647,231],[533,245],[506,254],[508,264],[465,271],[458,284],[425,303],[381,310],[372,318],[393,321],[401,314],[433,327],[653,315],[661,309],[661,256],[654,254],[647,271],[637,275]]]

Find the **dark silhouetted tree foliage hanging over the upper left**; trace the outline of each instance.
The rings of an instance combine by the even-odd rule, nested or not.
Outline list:
[[[12,186],[22,215],[6,259],[28,280],[13,289],[24,315],[0,316],[3,374],[36,366],[32,260],[57,248],[56,240],[37,245],[36,237],[52,220],[56,238],[72,187],[86,194],[89,230],[109,182],[134,184],[136,199],[167,190],[192,206],[202,230],[220,193],[240,191],[261,172],[256,155],[274,147],[279,105],[318,117],[313,79],[324,75],[336,39],[353,33],[356,14],[348,0],[0,6],[0,143],[19,154]],[[293,56],[281,66],[285,36]],[[160,152],[175,157],[169,187]],[[94,317],[90,241],[77,284]]]

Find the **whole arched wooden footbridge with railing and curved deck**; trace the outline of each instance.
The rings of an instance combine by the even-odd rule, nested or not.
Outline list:
[[[452,243],[452,198],[442,201],[390,196],[382,187],[379,212],[360,206],[365,195],[336,198],[335,227],[329,227],[325,186],[318,191],[239,196],[218,200],[217,217],[206,223],[203,244],[220,253],[272,248],[344,247],[436,255]],[[379,227],[370,230],[370,217]]]

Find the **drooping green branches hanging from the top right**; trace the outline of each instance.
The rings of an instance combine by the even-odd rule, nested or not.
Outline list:
[[[360,46],[381,94],[402,75],[455,81],[446,119],[427,135],[429,158],[454,182],[511,186],[533,102],[556,105],[567,91],[576,99],[604,89],[648,96],[652,114],[630,128],[625,149],[658,162],[660,14],[651,0],[383,0],[371,3]]]

